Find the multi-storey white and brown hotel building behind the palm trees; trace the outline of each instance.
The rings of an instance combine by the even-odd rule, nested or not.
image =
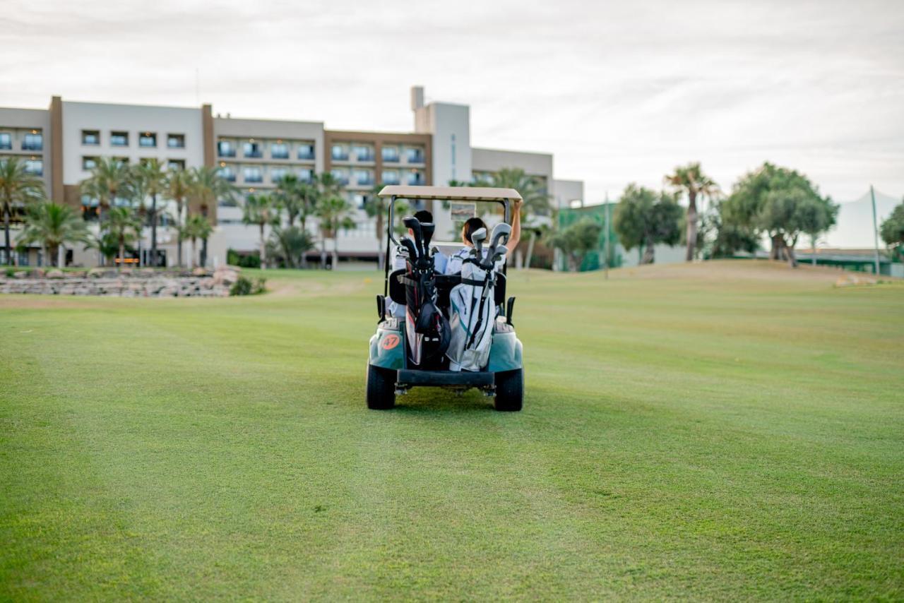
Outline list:
[[[223,117],[206,104],[160,107],[53,97],[47,109],[0,108],[0,159],[21,157],[42,177],[48,197],[78,208],[89,221],[96,221],[98,201],[81,194],[80,182],[101,157],[128,165],[155,158],[174,170],[216,167],[240,194],[203,208],[215,225],[207,253],[211,265],[224,263],[230,249],[258,249],[259,230],[242,223],[241,204],[249,193],[272,191],[287,174],[308,181],[330,172],[343,184],[355,228],[341,231],[329,245],[344,259],[377,258],[380,234],[365,208],[383,184],[479,181],[502,168],[520,167],[543,183],[554,205],[582,196],[582,183],[555,179],[551,154],[472,147],[468,106],[425,104],[424,90],[416,87],[411,108],[413,132],[368,132],[330,130],[317,121]],[[162,214],[174,215],[173,203],[162,199],[158,205]],[[430,209],[438,231],[449,231],[448,211],[432,204]],[[158,247],[173,265],[175,234],[163,226]],[[315,220],[308,221],[308,229],[318,236]],[[148,244],[146,235],[142,245]],[[71,250],[69,258],[84,266],[98,261],[96,252],[85,250]],[[42,258],[40,250],[31,250],[17,260],[33,265]]]

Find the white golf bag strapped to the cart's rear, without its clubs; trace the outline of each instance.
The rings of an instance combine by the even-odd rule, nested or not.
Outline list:
[[[449,327],[452,337],[446,355],[450,371],[480,371],[490,358],[496,320],[494,269],[466,261],[461,285],[449,293]]]

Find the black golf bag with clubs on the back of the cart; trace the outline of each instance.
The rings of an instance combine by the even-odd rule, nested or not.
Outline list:
[[[405,286],[405,334],[408,359],[420,369],[438,369],[449,344],[449,324],[437,307],[436,275],[433,252],[428,249],[433,224],[420,224],[415,218],[404,220],[414,239],[403,239],[407,252],[406,274],[399,280]]]

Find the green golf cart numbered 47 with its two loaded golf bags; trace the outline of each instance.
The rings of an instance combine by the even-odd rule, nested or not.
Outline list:
[[[441,387],[458,393],[476,388],[494,396],[496,410],[521,410],[524,373],[522,344],[512,324],[514,297],[505,298],[505,243],[512,231],[512,206],[521,195],[507,188],[385,186],[388,198],[386,270],[377,296],[377,332],[367,363],[367,408],[391,409],[396,395],[412,387]],[[439,200],[457,208],[499,203],[504,220],[489,234],[471,234],[474,249],[457,274],[438,274],[440,248],[461,243],[433,240],[435,225],[405,216],[408,235],[396,240],[393,211],[397,199]],[[405,268],[391,269],[391,250]],[[404,307],[405,316],[390,308]]]

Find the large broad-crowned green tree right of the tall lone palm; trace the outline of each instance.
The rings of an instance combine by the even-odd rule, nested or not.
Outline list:
[[[767,235],[770,258],[786,259],[792,267],[797,266],[798,237],[817,237],[833,226],[838,213],[838,205],[822,197],[805,175],[769,163],[742,176],[721,209],[723,225]]]

